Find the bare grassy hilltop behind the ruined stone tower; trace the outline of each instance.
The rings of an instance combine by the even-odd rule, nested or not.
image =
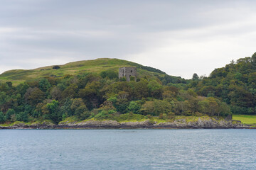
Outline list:
[[[40,79],[42,77],[63,77],[65,74],[83,74],[87,72],[100,73],[105,70],[113,70],[118,72],[119,67],[137,67],[137,76],[139,77],[163,77],[166,75],[159,69],[145,67],[141,64],[129,62],[119,59],[101,58],[97,60],[85,60],[79,62],[70,62],[68,64],[59,65],[60,69],[53,69],[53,66],[41,67],[38,69],[14,69],[0,74],[1,81],[12,81],[18,84],[31,79]]]

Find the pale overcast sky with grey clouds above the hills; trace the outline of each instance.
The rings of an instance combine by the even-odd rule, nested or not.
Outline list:
[[[1,0],[0,73],[118,58],[191,79],[256,52],[256,1]]]

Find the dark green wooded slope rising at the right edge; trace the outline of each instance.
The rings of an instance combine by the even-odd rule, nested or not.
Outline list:
[[[256,114],[256,52],[215,69],[201,80],[194,74],[193,80],[189,88],[198,95],[219,98],[233,114]]]

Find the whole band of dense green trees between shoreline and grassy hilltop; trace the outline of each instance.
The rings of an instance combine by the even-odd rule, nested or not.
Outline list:
[[[170,120],[175,115],[256,114],[255,70],[256,53],[215,69],[209,77],[193,74],[191,80],[165,74],[126,81],[118,79],[117,71],[106,70],[27,80],[16,86],[1,82],[0,123],[59,123],[69,117],[106,120],[127,113]]]

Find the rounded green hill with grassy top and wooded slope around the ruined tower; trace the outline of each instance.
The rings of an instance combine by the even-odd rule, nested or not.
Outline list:
[[[137,81],[118,79],[118,69],[124,66],[137,67]],[[67,118],[174,122],[175,116],[231,115],[230,106],[221,98],[204,96],[200,90],[209,78],[185,80],[125,60],[11,70],[0,79],[0,123],[8,125],[16,121],[58,124]]]

